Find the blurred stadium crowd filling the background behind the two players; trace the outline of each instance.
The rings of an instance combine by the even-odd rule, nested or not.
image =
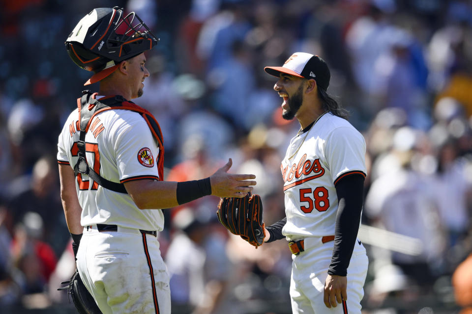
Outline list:
[[[472,313],[472,1],[0,3],[0,313],[75,311],[56,290],[75,269],[56,152],[91,74],[63,43],[92,8],[115,5],[160,38],[135,102],[161,125],[166,180],[207,177],[231,157],[231,172],[256,174],[266,224],[283,218],[280,161],[299,125],[281,118],[263,68],[318,54],[367,142],[362,223],[419,243],[365,243],[363,313]],[[217,202],[165,210],[173,313],[291,313],[286,241],[255,250],[228,235]]]

